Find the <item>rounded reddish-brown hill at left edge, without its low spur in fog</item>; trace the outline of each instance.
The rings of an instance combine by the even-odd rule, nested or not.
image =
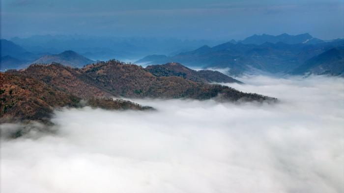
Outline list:
[[[80,99],[34,78],[0,72],[0,121],[46,122],[54,108],[76,106]]]

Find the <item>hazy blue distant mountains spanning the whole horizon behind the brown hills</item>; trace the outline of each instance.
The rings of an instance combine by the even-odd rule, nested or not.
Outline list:
[[[86,51],[83,54],[75,52],[75,50],[71,51],[63,51],[57,54],[51,54],[49,51],[56,51],[57,49],[53,50],[47,48],[50,46],[55,46],[55,48],[62,48],[66,47],[66,45],[76,44],[80,47],[91,46],[91,43],[95,45],[107,45],[107,41],[110,39],[96,39],[99,42],[95,43],[93,40],[85,40],[85,39],[74,39],[71,40],[65,36],[34,36],[27,39],[20,39],[20,38],[13,38],[16,42],[20,43],[21,45],[25,45],[25,48],[19,46],[11,41],[8,40],[1,40],[1,58],[0,58],[0,70],[8,70],[8,69],[22,69],[28,67],[32,63],[45,63],[50,64],[52,62],[61,63],[71,67],[83,67],[86,64],[93,63],[94,61],[88,59],[86,56],[90,56],[91,58],[97,58],[96,55],[102,55],[102,52],[112,52],[113,49],[117,49],[117,51],[126,52],[130,48],[135,52],[138,50],[144,49],[142,47],[137,46],[129,46],[127,45],[128,39],[119,40],[119,39],[111,39],[116,44],[119,42],[127,45],[126,47],[112,47],[107,48],[105,46],[103,48],[97,47],[95,49],[92,48],[91,50],[80,49],[78,50]],[[142,39],[131,40],[137,43],[137,41],[141,41]],[[130,41],[129,41],[130,42]],[[155,42],[155,41],[153,41]],[[182,63],[189,67],[200,67],[200,68],[210,68],[210,69],[229,69],[229,73],[233,75],[238,75],[244,72],[268,72],[268,73],[278,73],[278,74],[286,74],[294,72],[298,72],[298,68],[304,68],[302,66],[307,66],[312,63],[312,58],[319,56],[319,54],[324,53],[332,48],[339,48],[344,46],[343,39],[337,39],[332,41],[323,41],[317,38],[312,37],[310,34],[300,34],[300,35],[288,35],[286,33],[273,36],[273,35],[253,35],[248,37],[242,41],[235,41],[231,40],[224,44],[219,44],[217,46],[201,46],[197,49],[190,50],[190,51],[183,51],[178,53],[177,50],[187,50],[185,46],[181,46],[180,48],[176,48],[180,46],[179,43],[173,43],[173,41],[163,41],[164,43],[171,43],[175,47],[173,47],[174,55],[164,55],[164,54],[155,54],[155,55],[148,55],[143,57],[142,59],[136,61],[139,64],[143,65],[150,65],[150,64],[166,64],[170,62],[175,63]],[[201,41],[197,41],[191,43],[192,41],[186,41],[184,43],[197,45]],[[206,42],[206,41],[205,41]],[[29,45],[38,44],[41,45],[38,47],[30,47]],[[141,42],[147,43],[146,39],[142,40]],[[142,46],[142,44],[140,45]],[[212,42],[214,43],[214,42]],[[115,44],[115,43],[114,43]],[[147,43],[148,44],[148,43]],[[73,46],[73,48],[76,47]],[[137,43],[137,45],[139,45]],[[151,45],[151,43],[149,43]],[[114,46],[114,45],[112,45]],[[159,49],[164,48],[163,43],[156,43],[156,48]],[[30,51],[28,51],[28,49]],[[46,49],[47,48],[47,49]],[[191,48],[191,47],[188,47]],[[33,50],[33,51],[32,51]],[[40,50],[40,52],[37,52]],[[112,50],[112,51],[111,51]],[[143,53],[143,52],[141,52]],[[112,53],[113,57],[115,57],[115,52]],[[110,55],[109,55],[110,56]],[[133,55],[132,55],[133,56]],[[315,59],[313,59],[315,60]],[[337,60],[337,61],[333,61]],[[322,61],[324,64],[326,61]],[[328,65],[325,72],[321,72],[320,70],[309,70],[308,72],[311,73],[329,73],[329,74],[339,74],[335,72],[336,70],[340,69],[337,68],[338,65],[342,65],[343,62],[340,58],[331,59],[329,61],[331,65]],[[333,66],[335,65],[335,66]],[[320,67],[318,67],[320,69]],[[321,66],[324,68],[324,65]],[[313,67],[313,69],[316,69]],[[332,69],[332,70],[331,70]],[[303,72],[303,73],[308,73]]]

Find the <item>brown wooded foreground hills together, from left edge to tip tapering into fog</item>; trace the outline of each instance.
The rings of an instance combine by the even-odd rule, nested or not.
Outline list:
[[[169,65],[173,64],[167,64]],[[185,68],[179,64],[178,66]],[[176,72],[171,69],[171,73]],[[215,72],[213,76],[218,73]],[[130,102],[122,104],[111,101],[106,99],[108,97],[276,100],[268,96],[243,93],[219,84],[208,84],[203,80],[190,79],[192,77],[156,76],[150,73],[149,69],[115,60],[87,65],[81,69],[57,63],[31,65],[25,70],[0,72],[0,81],[3,83],[0,89],[0,121],[47,121],[54,108],[77,107],[82,104],[82,99],[90,106],[147,109]]]

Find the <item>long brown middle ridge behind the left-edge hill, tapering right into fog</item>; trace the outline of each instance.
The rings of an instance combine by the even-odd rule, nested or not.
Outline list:
[[[94,96],[194,99],[221,97],[228,101],[271,99],[267,96],[242,93],[229,87],[195,82],[179,76],[155,76],[140,66],[115,60],[87,65],[82,69],[59,64],[31,65],[26,70],[8,73],[39,79],[82,98]]]

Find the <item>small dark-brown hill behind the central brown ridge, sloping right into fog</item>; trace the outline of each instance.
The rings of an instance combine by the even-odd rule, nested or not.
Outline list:
[[[145,68],[155,76],[180,76],[195,82],[211,83],[242,83],[218,71],[201,70],[195,71],[179,63],[167,63],[164,65],[151,65]]]

